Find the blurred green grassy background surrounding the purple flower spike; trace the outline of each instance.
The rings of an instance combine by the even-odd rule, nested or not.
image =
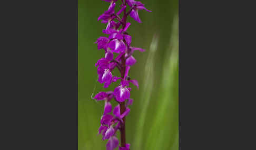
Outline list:
[[[131,46],[144,48],[134,52],[137,62],[129,76],[139,81],[131,85],[131,112],[126,117],[126,142],[131,149],[178,149],[178,0],[141,1],[152,12],[140,10],[142,23],[128,18]],[[117,2],[120,4],[120,2]],[[96,82],[96,61],[104,50],[94,44],[106,24],[97,18],[110,3],[101,0],[78,0],[78,149],[105,149],[106,140],[97,135],[104,102],[91,99],[104,89]],[[116,5],[119,8],[119,5]],[[117,9],[115,9],[117,10]],[[119,76],[117,69],[113,72]],[[115,106],[116,102],[112,102]],[[118,138],[119,135],[117,135]],[[117,148],[116,148],[117,149]]]

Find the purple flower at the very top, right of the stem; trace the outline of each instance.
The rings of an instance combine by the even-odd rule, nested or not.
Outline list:
[[[151,10],[147,10],[145,7],[144,7],[144,4],[142,4],[141,2],[139,1],[134,1],[134,0],[127,0],[126,1],[127,4],[132,7],[133,9],[131,10],[131,13],[130,13],[130,16],[137,22],[139,23],[142,23],[141,22],[141,19],[139,17],[139,13],[138,13],[138,10],[142,10],[142,9],[145,9],[147,12],[151,12]]]

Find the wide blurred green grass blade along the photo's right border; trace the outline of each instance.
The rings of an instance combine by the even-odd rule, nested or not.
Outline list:
[[[174,17],[169,54],[163,68],[161,92],[158,94],[156,115],[145,149],[178,149],[178,16]],[[137,149],[137,148],[135,148]]]

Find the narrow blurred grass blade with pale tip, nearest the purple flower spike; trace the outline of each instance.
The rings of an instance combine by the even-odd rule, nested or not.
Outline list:
[[[156,35],[153,36],[151,45],[150,45],[150,51],[149,56],[146,60],[146,66],[145,66],[145,72],[144,72],[144,89],[143,89],[143,96],[140,101],[141,111],[139,120],[137,123],[136,131],[135,131],[135,138],[133,143],[132,149],[142,149],[142,142],[143,142],[143,127],[145,125],[145,117],[146,117],[146,111],[147,107],[149,105],[152,89],[153,89],[153,81],[154,81],[154,71],[153,71],[153,65],[154,65],[154,56],[155,51],[158,44],[158,37]]]

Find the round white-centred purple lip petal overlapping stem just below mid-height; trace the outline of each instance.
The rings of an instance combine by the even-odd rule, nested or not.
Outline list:
[[[116,87],[113,94],[115,95],[116,100],[119,102],[123,102],[124,100],[130,98],[130,91],[122,85]]]

